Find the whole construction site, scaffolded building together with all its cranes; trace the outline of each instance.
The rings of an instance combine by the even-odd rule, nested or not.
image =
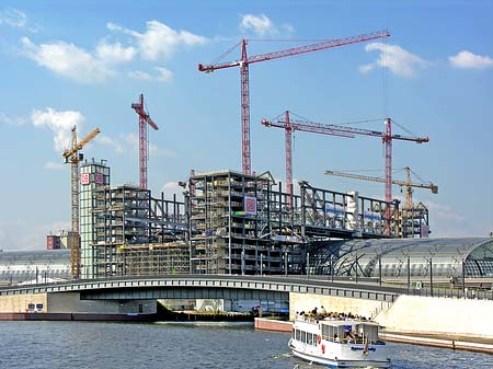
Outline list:
[[[73,127],[71,146],[64,152],[71,164],[71,274],[73,278],[104,278],[159,274],[303,274],[317,263],[341,257],[331,242],[353,239],[426,238],[428,210],[412,200],[413,188],[428,183],[392,180],[392,140],[428,142],[427,137],[376,131],[347,125],[294,119],[285,112],[265,127],[282,128],[286,141],[286,182],[276,182],[270,172],[251,170],[249,65],[296,56],[355,43],[386,38],[387,31],[331,39],[302,47],[246,57],[243,39],[241,59],[234,62],[198,65],[210,72],[239,67],[241,76],[242,171],[190,172],[180,182],[183,194],[154,197],[147,185],[148,127],[158,125],[147,112],[144,94],[131,104],[139,124],[139,185],[117,185],[110,181],[105,161],[83,160],[80,150],[100,129],[81,141]],[[313,187],[309,181],[293,183],[291,135],[294,131],[354,138],[378,138],[385,148],[385,178],[340,175],[385,184],[385,199],[355,191],[334,192]],[[392,185],[406,188],[405,204],[392,197]],[[177,196],[179,195],[179,196]],[[183,196],[181,196],[183,195]],[[322,268],[325,270],[326,268]]]

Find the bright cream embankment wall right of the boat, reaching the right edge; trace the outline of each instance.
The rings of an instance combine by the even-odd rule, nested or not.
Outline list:
[[[390,332],[493,338],[493,301],[400,296],[376,321]]]

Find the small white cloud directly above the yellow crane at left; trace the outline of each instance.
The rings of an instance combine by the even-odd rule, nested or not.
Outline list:
[[[70,143],[71,129],[77,125],[78,129],[85,117],[80,112],[61,111],[57,112],[51,107],[46,111],[34,109],[31,119],[36,128],[48,128],[54,132],[55,150],[61,151]]]

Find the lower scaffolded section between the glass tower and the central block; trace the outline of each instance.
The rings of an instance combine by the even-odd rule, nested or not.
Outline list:
[[[95,277],[190,272],[185,204],[175,195],[165,200],[138,186],[104,186],[93,203]]]

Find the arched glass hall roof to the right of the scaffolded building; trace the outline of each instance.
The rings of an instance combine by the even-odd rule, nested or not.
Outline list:
[[[492,277],[493,238],[387,239],[336,242],[341,276],[413,278]],[[408,272],[409,268],[409,272]],[[381,270],[381,272],[380,272]]]

